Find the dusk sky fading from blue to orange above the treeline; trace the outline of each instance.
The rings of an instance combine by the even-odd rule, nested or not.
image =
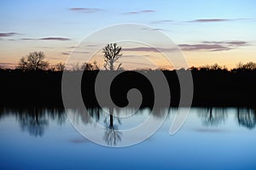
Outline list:
[[[22,56],[34,51],[43,51],[51,65],[65,63],[75,53],[90,54],[95,42],[86,42],[86,37],[91,34],[133,23],[149,26],[144,31],[159,31],[172,40],[189,66],[218,63],[232,68],[239,62],[256,62],[255,7],[252,0],[1,0],[0,66],[15,68]],[[79,45],[84,41],[86,48]],[[175,47],[159,38],[155,42],[159,45],[153,48]],[[102,47],[107,43],[102,41]],[[154,68],[155,63],[168,66],[150,44],[120,44],[125,69]],[[102,50],[93,59],[102,65]]]

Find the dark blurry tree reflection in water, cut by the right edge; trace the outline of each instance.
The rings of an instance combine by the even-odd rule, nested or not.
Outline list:
[[[252,109],[237,109],[237,121],[240,125],[252,129],[256,126],[256,113]]]

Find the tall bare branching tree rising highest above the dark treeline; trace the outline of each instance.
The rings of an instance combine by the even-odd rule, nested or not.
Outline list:
[[[105,48],[103,48],[103,53],[104,53],[104,67],[108,71],[119,71],[123,70],[121,67],[121,63],[118,65],[118,67],[115,69],[114,63],[118,61],[118,59],[122,56],[121,54],[122,48],[117,46],[116,43],[110,43]]]

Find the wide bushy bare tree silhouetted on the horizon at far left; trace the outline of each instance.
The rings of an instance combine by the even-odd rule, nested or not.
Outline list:
[[[45,70],[49,66],[47,61],[44,61],[43,52],[33,52],[20,59],[18,69],[22,71],[38,71]]]

